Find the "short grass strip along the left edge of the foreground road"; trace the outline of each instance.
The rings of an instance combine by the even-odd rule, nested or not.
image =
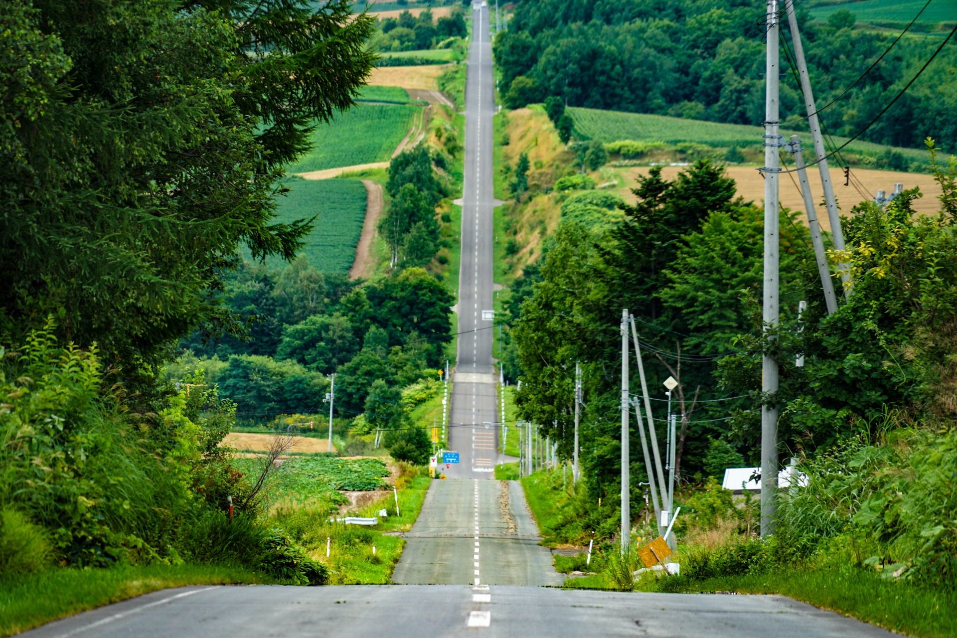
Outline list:
[[[198,565],[60,568],[0,582],[0,636],[21,633],[59,618],[119,603],[158,589],[188,584],[276,583],[236,567]]]

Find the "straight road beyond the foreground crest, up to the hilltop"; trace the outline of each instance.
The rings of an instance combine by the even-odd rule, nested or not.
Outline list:
[[[541,546],[522,487],[494,478],[499,421],[492,321],[492,116],[495,114],[488,9],[473,12],[465,91],[462,262],[458,283],[458,361],[449,449],[459,463],[441,470],[405,535],[393,583],[561,584]],[[466,332],[474,331],[474,332]]]

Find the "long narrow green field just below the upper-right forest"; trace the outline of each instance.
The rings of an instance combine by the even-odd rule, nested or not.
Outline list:
[[[716,121],[685,120],[662,115],[644,113],[623,113],[621,111],[600,111],[590,108],[568,108],[568,114],[575,122],[575,130],[590,140],[604,143],[618,140],[635,142],[664,143],[701,143],[716,147],[746,147],[764,142],[765,129],[745,124],[723,124]],[[802,131],[782,130],[785,139],[798,135],[810,142],[810,134]],[[836,137],[835,143],[847,142],[847,138]],[[847,152],[866,155],[878,155],[892,148],[881,144],[855,141],[847,146]],[[894,148],[909,160],[926,160],[926,152],[918,148]]]

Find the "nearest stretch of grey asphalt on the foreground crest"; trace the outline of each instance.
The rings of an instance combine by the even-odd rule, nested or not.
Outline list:
[[[894,634],[780,596],[447,584],[182,587],[100,607],[23,635],[863,638]]]

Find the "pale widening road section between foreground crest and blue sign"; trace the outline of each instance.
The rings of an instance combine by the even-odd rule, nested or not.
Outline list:
[[[516,481],[437,480],[405,534],[392,583],[558,585]]]

